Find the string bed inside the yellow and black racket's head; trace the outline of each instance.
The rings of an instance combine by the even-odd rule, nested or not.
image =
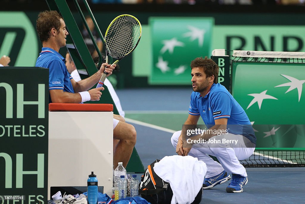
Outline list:
[[[138,21],[131,16],[121,16],[112,23],[106,34],[109,53],[117,58],[123,57],[137,45],[140,35]]]

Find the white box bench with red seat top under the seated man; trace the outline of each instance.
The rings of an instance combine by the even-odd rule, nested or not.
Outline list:
[[[113,185],[113,105],[50,103],[49,110],[48,199],[51,186],[86,186],[91,171],[109,194]]]

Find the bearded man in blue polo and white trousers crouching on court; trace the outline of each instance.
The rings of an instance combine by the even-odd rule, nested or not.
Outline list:
[[[232,174],[226,191],[241,193],[248,175],[239,160],[249,158],[256,144],[250,120],[229,91],[217,83],[219,67],[212,59],[196,58],[191,69],[193,92],[188,119],[183,130],[173,134],[171,143],[178,155],[190,155],[206,163],[203,189],[228,181]],[[200,116],[208,129],[197,130],[196,134],[193,127]],[[216,156],[220,163],[209,155]]]

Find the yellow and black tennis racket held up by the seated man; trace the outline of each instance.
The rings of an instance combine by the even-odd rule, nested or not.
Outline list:
[[[117,59],[112,65],[129,55],[137,47],[141,34],[142,26],[135,16],[123,14],[113,19],[105,34],[106,63],[108,55]],[[107,74],[102,74],[96,88],[103,86]]]

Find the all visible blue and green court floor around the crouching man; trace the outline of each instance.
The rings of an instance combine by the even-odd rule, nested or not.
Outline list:
[[[118,90],[126,120],[137,130],[138,154],[145,166],[155,159],[175,155],[170,137],[181,130],[188,116],[192,88]],[[264,159],[265,155],[253,155]],[[280,155],[277,155],[280,157]],[[278,159],[278,158],[277,158]],[[289,159],[279,159],[289,163]],[[225,191],[230,181],[204,190],[201,203],[255,204],[304,203],[305,167],[246,168],[249,182],[242,193]],[[179,179],[179,178],[177,178]]]

